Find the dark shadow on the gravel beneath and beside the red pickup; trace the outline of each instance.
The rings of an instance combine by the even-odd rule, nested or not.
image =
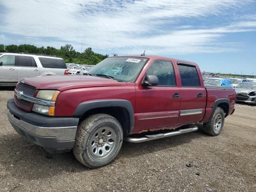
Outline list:
[[[95,172],[95,170],[86,168],[80,164],[72,152],[49,154],[43,148],[22,139],[18,134],[14,134],[14,132],[1,137],[0,162],[17,179],[24,178],[32,180],[36,178],[50,178],[58,174],[72,172]],[[175,150],[176,147],[204,137],[209,136],[196,131],[137,144],[123,142],[116,160],[103,168],[98,168],[96,172],[102,171],[101,169],[110,168],[114,164],[125,164],[127,158],[130,158],[131,160],[129,161],[132,161],[134,157],[160,152],[166,149],[172,153],[171,151],[173,149]]]

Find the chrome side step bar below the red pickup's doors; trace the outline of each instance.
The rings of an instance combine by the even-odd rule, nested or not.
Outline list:
[[[151,140],[161,139],[161,138],[170,137],[170,136],[174,136],[174,135],[180,135],[180,134],[193,132],[193,131],[197,131],[197,130],[198,130],[197,126],[191,125],[190,128],[180,129],[180,130],[172,131],[172,132],[168,132],[168,133],[160,133],[160,134],[156,134],[156,135],[145,135],[144,137],[140,137],[140,138],[132,138],[132,137],[128,136],[124,140],[127,142],[131,142],[131,143],[141,143],[141,142],[145,142],[145,141],[151,141]]]

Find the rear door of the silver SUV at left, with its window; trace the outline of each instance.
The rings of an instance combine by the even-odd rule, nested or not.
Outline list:
[[[40,72],[36,61],[31,56],[18,56],[18,80],[26,77],[39,76]]]

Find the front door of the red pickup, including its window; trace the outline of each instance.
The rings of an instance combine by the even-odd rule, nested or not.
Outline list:
[[[158,77],[158,86],[136,88],[134,132],[168,128],[177,124],[180,89],[176,86],[174,68],[170,61],[154,61],[147,75]]]

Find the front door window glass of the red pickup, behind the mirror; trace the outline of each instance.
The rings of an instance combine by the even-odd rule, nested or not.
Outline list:
[[[147,75],[158,77],[158,86],[176,86],[175,75],[170,61],[155,61],[148,68]]]

